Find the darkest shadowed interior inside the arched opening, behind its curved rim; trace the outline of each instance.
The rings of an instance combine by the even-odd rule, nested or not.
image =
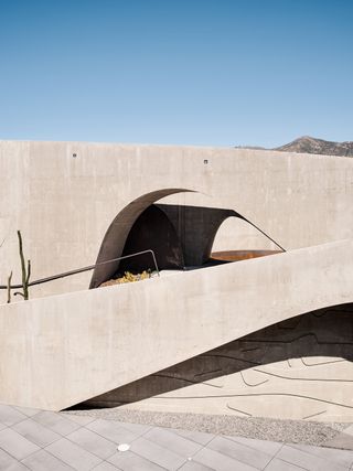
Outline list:
[[[210,261],[213,261],[214,265],[217,261],[232,261],[232,259],[226,260],[225,258],[210,260],[216,233],[222,223],[232,216],[242,217],[232,210],[151,204],[138,215],[128,234],[126,235],[124,232],[126,240],[120,255],[127,256],[151,249],[154,251],[160,270],[195,268],[210,264]],[[116,224],[118,225],[118,222]],[[116,237],[121,237],[117,231]],[[116,245],[120,247],[121,240],[117,239]],[[114,246],[113,238],[109,242],[110,246]],[[104,256],[104,258],[106,257]],[[99,274],[117,278],[125,271],[154,270],[154,264],[150,254],[145,254],[117,261],[114,264],[114,268],[115,272],[111,272],[111,266],[103,267]],[[98,271],[95,277],[97,274]],[[97,280],[97,278],[95,279]]]

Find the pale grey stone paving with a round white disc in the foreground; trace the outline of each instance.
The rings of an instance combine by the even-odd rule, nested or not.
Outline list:
[[[0,470],[353,470],[353,451],[0,405]]]

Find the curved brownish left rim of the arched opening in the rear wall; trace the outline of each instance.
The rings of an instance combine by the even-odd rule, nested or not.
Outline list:
[[[138,199],[133,200],[128,204],[120,213],[115,217],[106,235],[104,236],[96,264],[100,261],[110,260],[121,256],[125,243],[131,231],[133,223],[143,213],[143,211],[153,204],[156,201],[162,197],[169,196],[176,193],[192,193],[194,190],[189,189],[163,189],[157,190]],[[111,277],[119,267],[119,261],[103,265],[97,267],[92,276],[89,288],[97,288],[100,283]]]

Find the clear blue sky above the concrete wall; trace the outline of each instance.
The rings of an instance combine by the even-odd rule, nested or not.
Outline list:
[[[352,0],[0,0],[0,139],[353,140]]]

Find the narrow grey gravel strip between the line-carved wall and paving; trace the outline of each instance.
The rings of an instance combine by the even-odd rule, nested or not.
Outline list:
[[[101,419],[145,424],[157,427],[313,446],[324,446],[351,425],[346,422],[315,422],[204,414],[122,410],[119,408],[69,410],[64,414],[85,415]],[[330,446],[330,443],[327,443],[327,446]]]

